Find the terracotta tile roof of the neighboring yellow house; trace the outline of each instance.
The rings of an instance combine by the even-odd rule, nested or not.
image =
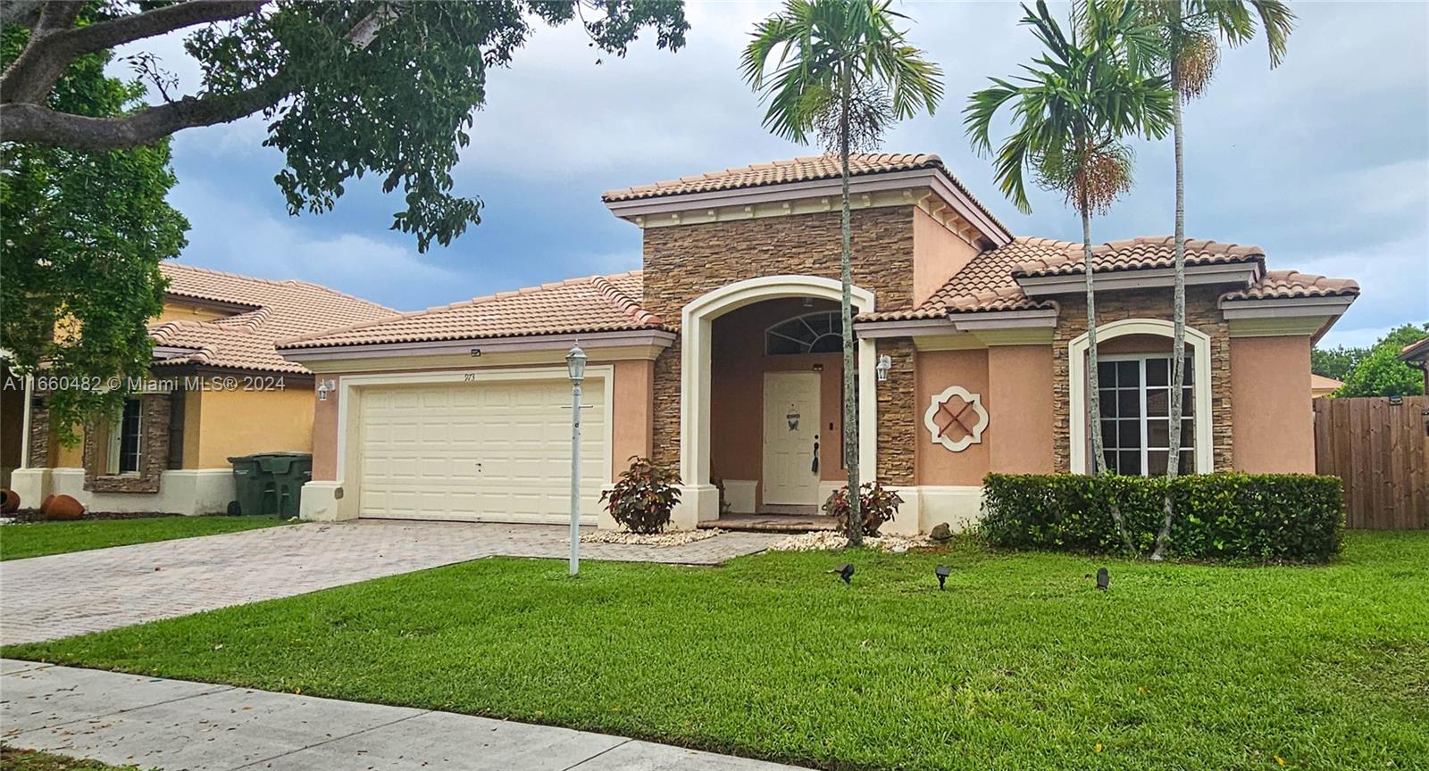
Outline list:
[[[201,364],[239,370],[307,373],[273,343],[346,324],[392,317],[397,311],[307,281],[270,281],[177,263],[161,263],[174,298],[217,301],[253,310],[213,321],[166,321],[149,328],[156,346],[187,353],[154,366]]]

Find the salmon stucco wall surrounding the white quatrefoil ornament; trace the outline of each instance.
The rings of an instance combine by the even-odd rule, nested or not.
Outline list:
[[[977,348],[969,351],[923,351],[917,354],[915,388],[915,478],[917,484],[982,484],[982,478],[989,471],[989,447],[993,441],[989,433],[983,433],[982,443],[972,444],[960,453],[949,451],[942,444],[933,444],[933,437],[923,424],[923,411],[933,397],[943,393],[949,386],[962,386],[972,394],[979,394],[986,408],[990,403],[987,388],[987,350]],[[993,428],[992,414],[987,421],[989,431]],[[882,453],[883,448],[879,447]]]

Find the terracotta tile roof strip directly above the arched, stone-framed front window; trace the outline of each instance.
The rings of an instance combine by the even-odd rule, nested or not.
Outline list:
[[[1053,238],[1017,238],[1003,248],[1019,246],[1025,258],[1013,268],[1016,277],[1067,276],[1085,273],[1085,250],[1080,243]],[[1092,247],[1096,273],[1173,267],[1176,241],[1172,236],[1140,236],[1107,241]],[[1202,238],[1186,238],[1187,266],[1213,266],[1265,260],[1265,251],[1255,246],[1222,244]]]

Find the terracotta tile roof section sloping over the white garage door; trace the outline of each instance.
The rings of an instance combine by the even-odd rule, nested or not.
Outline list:
[[[640,271],[503,291],[284,340],[282,350],[664,328],[640,307]]]

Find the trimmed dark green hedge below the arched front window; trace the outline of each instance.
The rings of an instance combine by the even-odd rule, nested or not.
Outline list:
[[[1142,553],[1160,530],[1166,485],[1176,518],[1166,553],[1193,560],[1325,563],[1340,548],[1345,505],[1338,477],[1202,474],[1089,477],[987,474],[982,533],[995,545],[1097,554],[1125,551],[1119,505]]]

